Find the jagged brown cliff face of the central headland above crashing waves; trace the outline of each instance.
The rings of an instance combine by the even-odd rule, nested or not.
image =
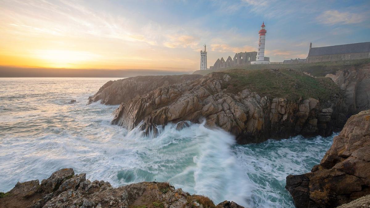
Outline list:
[[[320,103],[315,99],[270,99],[248,89],[233,94],[227,90],[230,80],[230,76],[218,72],[192,83],[156,88],[122,103],[112,124],[128,130],[141,125],[148,133],[169,122],[199,123],[205,119],[209,127],[221,127],[243,144],[297,134],[326,136],[340,130],[346,121],[346,116],[340,113],[344,102],[338,95]]]

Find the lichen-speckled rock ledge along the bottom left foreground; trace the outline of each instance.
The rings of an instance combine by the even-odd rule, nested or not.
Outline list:
[[[141,182],[113,188],[108,182],[86,180],[85,174],[75,175],[71,168],[54,172],[41,184],[38,180],[18,182],[3,195],[0,197],[2,208],[243,208],[229,201],[215,206],[207,197],[190,195],[165,182]]]

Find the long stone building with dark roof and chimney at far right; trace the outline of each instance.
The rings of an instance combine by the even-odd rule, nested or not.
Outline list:
[[[310,43],[306,62],[341,61],[361,58],[370,58],[370,42],[316,48],[313,48],[312,43]]]

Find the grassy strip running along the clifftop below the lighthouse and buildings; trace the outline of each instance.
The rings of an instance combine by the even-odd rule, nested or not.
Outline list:
[[[244,70],[262,70],[262,69],[284,69],[293,68],[300,70],[314,77],[324,77],[326,74],[335,74],[337,70],[350,69],[352,67],[360,67],[370,63],[370,58],[347,60],[347,61],[327,61],[317,63],[303,63],[303,64],[249,64],[244,66],[236,66],[229,68],[222,68],[221,70],[202,70],[195,71],[193,74],[206,75],[216,71],[228,71],[231,69],[244,69]]]

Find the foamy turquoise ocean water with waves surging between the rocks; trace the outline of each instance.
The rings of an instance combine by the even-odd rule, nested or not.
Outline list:
[[[238,145],[204,124],[181,131],[169,124],[158,137],[145,137],[110,125],[117,105],[86,105],[115,79],[0,78],[0,191],[71,167],[114,187],[168,181],[216,204],[294,207],[286,176],[310,171],[332,144],[334,135]]]

